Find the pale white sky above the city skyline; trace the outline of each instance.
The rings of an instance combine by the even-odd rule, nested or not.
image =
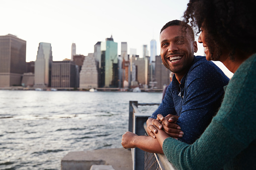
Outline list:
[[[0,35],[13,34],[27,41],[26,61],[35,61],[40,42],[51,43],[53,61],[76,54],[94,53],[94,45],[113,36],[121,54],[121,42],[136,49],[156,40],[160,55],[159,32],[172,20],[181,20],[189,0],[0,0]],[[198,38],[196,37],[196,40]],[[204,55],[198,44],[195,55]],[[217,64],[221,65],[221,64]],[[221,66],[222,67],[222,66]],[[226,68],[223,68],[226,69]]]

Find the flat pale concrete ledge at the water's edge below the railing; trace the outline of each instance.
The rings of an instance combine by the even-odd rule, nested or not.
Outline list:
[[[62,170],[90,170],[93,164],[112,165],[115,170],[130,170],[131,151],[124,148],[73,151],[61,159]]]

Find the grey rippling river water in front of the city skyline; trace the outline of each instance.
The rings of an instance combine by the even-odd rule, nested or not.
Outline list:
[[[70,151],[122,147],[129,100],[159,103],[161,95],[0,90],[0,169],[60,169]]]

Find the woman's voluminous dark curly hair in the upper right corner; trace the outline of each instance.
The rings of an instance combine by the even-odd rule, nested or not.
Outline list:
[[[255,7],[255,0],[190,0],[183,18],[197,34],[203,24],[212,60],[218,60],[224,49],[233,59],[237,52],[256,53]]]

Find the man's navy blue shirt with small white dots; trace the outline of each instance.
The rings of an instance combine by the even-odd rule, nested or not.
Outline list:
[[[174,75],[161,104],[150,118],[156,118],[157,114],[180,116],[177,124],[184,135],[179,140],[194,143],[218,111],[224,95],[223,87],[228,82],[229,78],[213,62],[194,56],[181,84]]]

